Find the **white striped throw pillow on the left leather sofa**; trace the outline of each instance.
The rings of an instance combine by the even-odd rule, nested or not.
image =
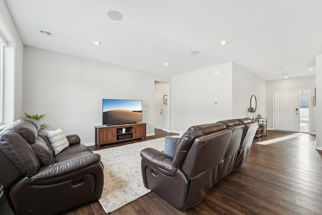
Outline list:
[[[57,130],[46,130],[47,138],[50,142],[55,155],[63,151],[69,146],[69,142],[63,130],[58,128]]]

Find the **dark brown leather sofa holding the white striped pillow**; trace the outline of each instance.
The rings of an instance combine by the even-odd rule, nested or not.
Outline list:
[[[100,155],[75,134],[54,156],[34,119],[20,119],[0,133],[0,181],[16,214],[57,214],[101,197]],[[50,155],[50,156],[48,156]]]

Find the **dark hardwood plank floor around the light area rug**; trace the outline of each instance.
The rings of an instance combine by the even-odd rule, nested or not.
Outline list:
[[[155,130],[155,136],[147,139],[166,135],[169,133]],[[315,135],[303,133],[257,144],[289,135],[294,134],[268,131],[264,138],[255,138],[244,167],[215,184],[195,207],[181,211],[150,192],[112,214],[322,214],[322,151],[314,149]],[[95,201],[62,214],[105,212]]]

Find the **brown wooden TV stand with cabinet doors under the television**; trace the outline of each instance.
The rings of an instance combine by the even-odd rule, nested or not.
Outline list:
[[[125,132],[122,129],[125,128]],[[95,146],[100,149],[101,145],[131,139],[146,139],[146,123],[138,122],[123,125],[99,125],[95,126]]]

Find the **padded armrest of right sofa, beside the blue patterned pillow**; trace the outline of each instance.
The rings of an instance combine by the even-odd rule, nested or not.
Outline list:
[[[141,151],[140,155],[143,159],[155,167],[172,173],[177,171],[177,168],[172,166],[172,158],[164,155],[163,152],[152,148],[146,148]]]

